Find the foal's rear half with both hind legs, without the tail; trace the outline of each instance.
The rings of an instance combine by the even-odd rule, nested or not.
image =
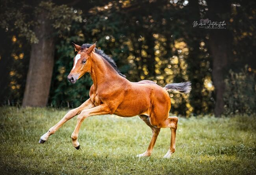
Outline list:
[[[153,81],[147,80],[130,83],[130,86],[127,87],[126,95],[114,114],[123,117],[139,115],[152,130],[152,138],[148,149],[137,157],[151,155],[160,128],[165,127],[171,128],[171,146],[164,157],[171,157],[171,154],[175,151],[178,118],[169,117],[171,99],[168,92]]]

